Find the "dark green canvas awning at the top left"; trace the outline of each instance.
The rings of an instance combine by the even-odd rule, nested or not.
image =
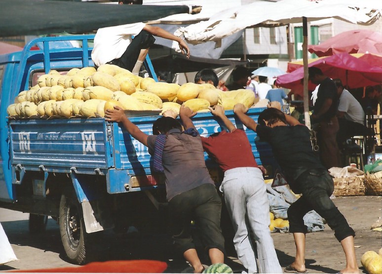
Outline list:
[[[98,28],[189,13],[187,5],[112,5],[52,0],[1,0],[0,37],[85,33]]]

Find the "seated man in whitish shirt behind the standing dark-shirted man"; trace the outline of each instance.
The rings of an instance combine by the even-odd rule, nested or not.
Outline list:
[[[342,148],[346,139],[367,134],[365,112],[354,96],[344,89],[344,85],[340,79],[333,79],[333,81],[337,86],[339,97],[337,117],[340,130],[337,134],[337,142],[339,147]]]

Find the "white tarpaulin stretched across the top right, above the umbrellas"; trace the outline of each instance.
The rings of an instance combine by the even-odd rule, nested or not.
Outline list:
[[[354,24],[369,25],[381,17],[381,0],[281,0],[254,2],[221,11],[208,21],[179,28],[175,34],[188,43],[219,43],[223,37],[259,24],[301,23],[336,18]],[[173,44],[173,48],[176,46]]]

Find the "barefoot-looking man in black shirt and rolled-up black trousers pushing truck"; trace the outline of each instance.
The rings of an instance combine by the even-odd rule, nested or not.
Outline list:
[[[354,230],[330,199],[334,191],[333,178],[312,150],[309,129],[280,109],[280,103],[269,103],[268,108],[259,115],[259,124],[245,114],[248,108],[243,104],[235,104],[233,111],[243,125],[270,144],[290,188],[294,193],[302,194],[287,211],[289,231],[293,233],[296,244],[296,257],[284,272],[306,273],[307,227],[303,218],[307,212],[315,210],[334,230],[334,236],[344,249],[346,267],[339,273],[359,273],[354,250]],[[285,143],[288,145],[285,146]]]

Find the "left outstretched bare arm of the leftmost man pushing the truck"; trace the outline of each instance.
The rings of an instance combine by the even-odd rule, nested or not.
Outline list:
[[[137,139],[139,142],[147,146],[148,135],[143,133],[136,125],[127,119],[125,112],[119,106],[114,106],[114,109],[107,109],[105,111],[105,120],[108,122],[122,123],[123,127],[129,132],[129,134]]]

